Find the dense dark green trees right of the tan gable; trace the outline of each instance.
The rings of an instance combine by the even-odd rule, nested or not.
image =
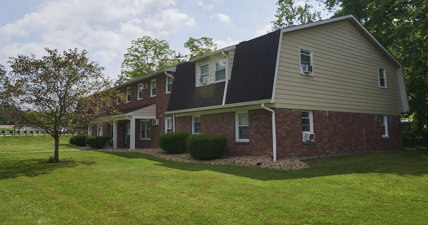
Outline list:
[[[414,133],[428,141],[428,4],[425,0],[319,0],[334,17],[353,14],[401,61]]]

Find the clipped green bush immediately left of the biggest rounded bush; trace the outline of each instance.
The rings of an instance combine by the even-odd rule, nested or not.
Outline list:
[[[159,146],[168,153],[183,153],[186,149],[186,139],[189,134],[186,132],[168,132],[159,136]]]

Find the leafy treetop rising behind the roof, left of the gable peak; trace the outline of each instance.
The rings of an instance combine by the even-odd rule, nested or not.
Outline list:
[[[278,18],[272,21],[272,31],[294,26],[295,22],[299,24],[310,23],[321,20],[320,12],[310,12],[312,6],[305,2],[304,6],[294,6],[293,0],[278,0],[278,9],[275,17]]]

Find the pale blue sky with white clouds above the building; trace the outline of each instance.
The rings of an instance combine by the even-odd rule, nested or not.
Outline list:
[[[166,40],[188,54],[189,37],[211,37],[217,49],[266,34],[276,0],[0,0],[0,65],[18,54],[45,55],[45,48],[88,51],[117,79],[131,41]],[[315,1],[309,3],[329,18]],[[295,5],[304,4],[295,1]]]

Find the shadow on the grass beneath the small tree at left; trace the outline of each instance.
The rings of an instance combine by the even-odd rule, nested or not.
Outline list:
[[[47,159],[4,160],[0,164],[0,179],[18,176],[38,176],[51,173],[56,169],[71,168],[79,165],[92,165],[95,162],[64,160],[60,163],[48,163]]]

